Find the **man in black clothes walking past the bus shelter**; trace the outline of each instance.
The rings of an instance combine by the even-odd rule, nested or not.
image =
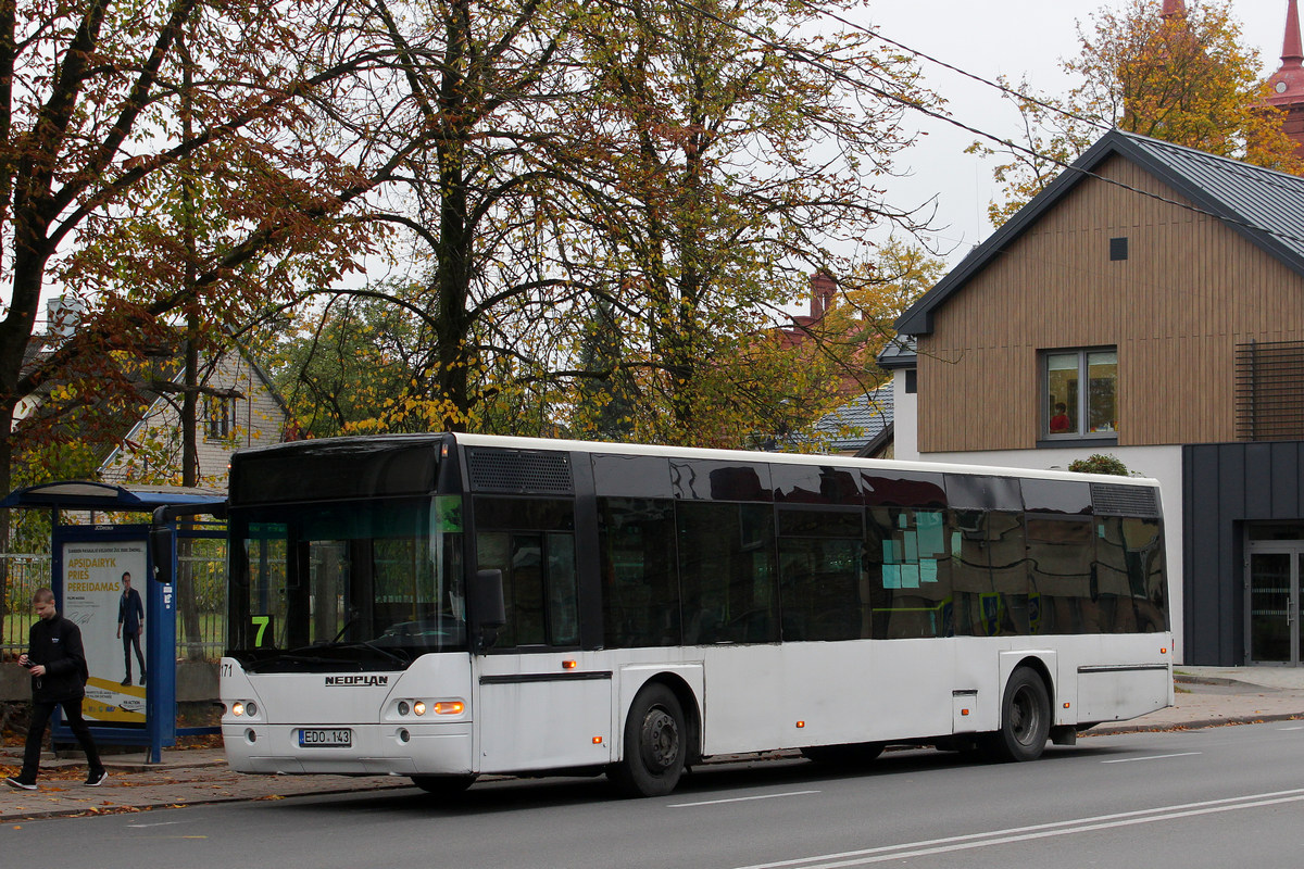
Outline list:
[[[50,589],[37,589],[31,595],[31,607],[39,620],[27,633],[27,651],[18,655],[18,663],[31,672],[31,723],[27,726],[22,771],[17,778],[7,778],[4,783],[22,791],[37,790],[40,745],[46,739],[50,717],[59,706],[64,710],[64,720],[86,752],[86,784],[99,787],[108,778],[108,773],[99,761],[95,740],[91,739],[90,727],[81,714],[89,672],[81,629],[59,615],[59,610],[55,608],[55,594]]]

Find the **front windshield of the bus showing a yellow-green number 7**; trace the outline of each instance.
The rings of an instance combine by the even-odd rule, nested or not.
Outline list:
[[[227,654],[261,672],[403,670],[464,650],[456,495],[231,512]]]

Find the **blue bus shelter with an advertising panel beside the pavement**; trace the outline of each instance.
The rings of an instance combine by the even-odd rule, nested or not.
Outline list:
[[[153,582],[155,555],[150,547],[149,517],[140,524],[99,521],[98,515],[153,515],[171,526],[171,560],[162,576],[176,576],[176,539],[220,537],[190,524],[176,528],[177,516],[222,516],[226,499],[211,491],[166,486],[117,486],[93,481],[65,481],[27,486],[0,500],[0,508],[48,509],[51,512],[50,589],[60,614],[78,624],[86,648],[90,676],[82,711],[95,740],[103,744],[145,745],[147,761],[162,760],[162,749],[176,744],[179,735],[211,728],[177,728],[176,706],[176,594],[171,582]],[[85,524],[65,524],[67,511],[90,512]],[[108,519],[106,516],[104,519]],[[163,567],[162,564],[159,567]],[[138,591],[145,608],[141,637],[143,672],[128,679],[126,655],[134,648],[119,637],[119,603],[124,578]],[[72,731],[57,717],[52,739],[73,741]]]

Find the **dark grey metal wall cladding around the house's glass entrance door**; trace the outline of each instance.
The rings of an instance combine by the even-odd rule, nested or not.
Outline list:
[[[1247,521],[1304,521],[1304,442],[1183,447],[1184,661],[1245,663]]]

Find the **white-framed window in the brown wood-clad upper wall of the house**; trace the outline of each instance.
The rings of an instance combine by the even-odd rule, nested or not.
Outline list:
[[[1112,347],[1042,354],[1042,436],[1116,438],[1119,352]]]

